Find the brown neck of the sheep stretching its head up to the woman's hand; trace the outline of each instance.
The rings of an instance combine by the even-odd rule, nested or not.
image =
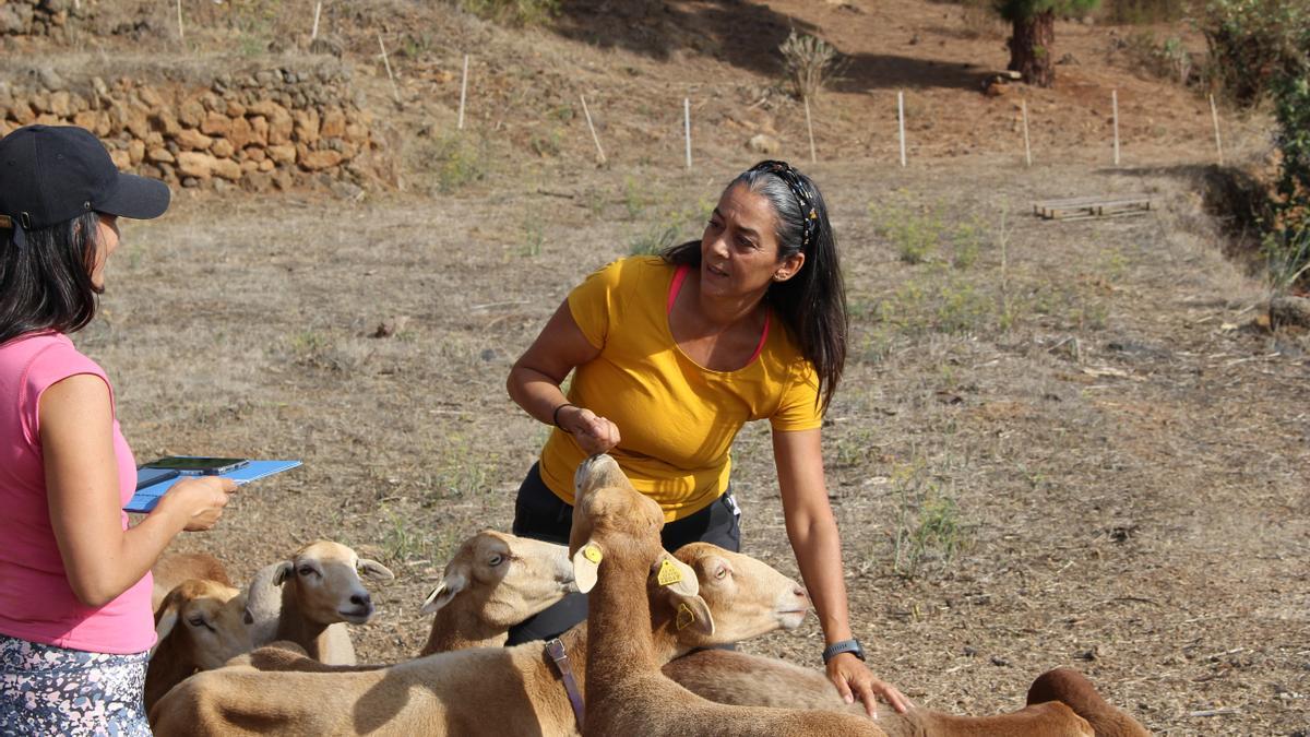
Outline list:
[[[596,588],[587,597],[591,622],[587,648],[587,698],[604,698],[605,691],[630,673],[658,671],[655,637],[646,580],[654,556],[637,551],[607,549]]]

